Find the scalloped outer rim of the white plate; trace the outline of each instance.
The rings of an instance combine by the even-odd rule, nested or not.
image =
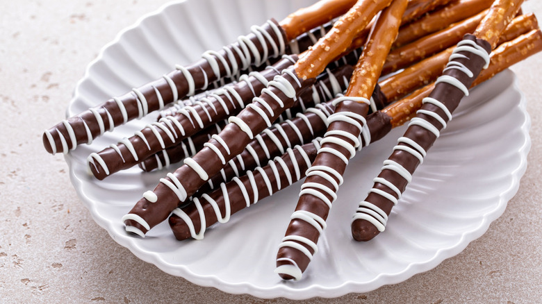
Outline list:
[[[157,15],[162,14],[167,8],[173,5],[179,5],[181,3],[187,3],[188,0],[180,0],[180,1],[170,1],[168,3],[165,3],[161,8],[158,8],[158,10],[154,12],[149,12],[142,17],[138,19],[138,21],[133,24],[132,26],[124,28],[124,30],[120,31],[115,36],[115,39],[108,44],[104,45],[99,51],[99,55],[95,60],[92,60],[88,66],[85,69],[85,74],[83,77],[76,83],[76,88],[73,93],[73,97],[71,101],[69,102],[69,105],[74,103],[74,101],[79,97],[79,86],[81,83],[83,83],[89,76],[89,69],[92,67],[92,65],[95,65],[96,62],[99,62],[102,60],[104,56],[104,52],[111,47],[114,44],[117,44],[120,41],[120,38],[129,31],[132,31],[133,29],[138,28],[140,24],[149,17],[156,17]],[[516,84],[517,79],[514,77],[514,87],[516,90],[518,90],[518,86]],[[337,285],[334,287],[325,287],[322,285],[311,285],[309,287],[306,287],[304,289],[295,289],[290,287],[286,284],[279,284],[274,285],[273,287],[256,287],[249,282],[241,282],[241,283],[231,283],[226,282],[224,280],[221,280],[219,277],[215,275],[209,275],[209,276],[202,276],[197,273],[194,273],[186,267],[186,265],[174,265],[174,270],[167,268],[167,262],[163,260],[160,255],[156,252],[149,252],[149,251],[142,251],[141,248],[136,247],[136,239],[133,237],[130,237],[128,235],[126,236],[119,236],[119,235],[113,235],[112,231],[112,225],[110,221],[106,220],[104,217],[101,217],[101,215],[97,212],[96,206],[92,205],[89,201],[87,201],[88,197],[85,196],[83,193],[81,187],[82,181],[80,178],[78,178],[75,173],[74,169],[72,167],[72,158],[71,155],[67,154],[65,155],[65,160],[67,164],[69,165],[69,176],[70,180],[72,181],[72,184],[74,185],[74,188],[76,189],[76,193],[79,196],[79,198],[83,201],[83,204],[86,208],[90,211],[90,214],[92,216],[92,219],[96,223],[99,224],[102,228],[104,228],[110,237],[117,242],[117,244],[120,244],[121,246],[124,246],[133,253],[133,255],[136,255],[136,257],[140,258],[140,260],[143,260],[145,262],[149,262],[151,264],[154,264],[156,267],[164,271],[165,273],[169,273],[172,276],[182,276],[183,278],[186,278],[186,280],[189,280],[190,282],[193,282],[197,285],[205,286],[205,287],[215,287],[217,289],[220,289],[224,292],[229,292],[231,294],[251,294],[253,296],[258,296],[261,298],[275,298],[278,296],[286,297],[290,299],[295,300],[301,300],[301,299],[307,299],[307,298],[313,298],[316,296],[320,296],[323,298],[334,298],[337,296],[343,296],[345,294],[351,293],[351,292],[369,292],[371,290],[377,289],[383,285],[389,285],[389,284],[397,284],[399,282],[403,282],[404,280],[407,280],[408,278],[411,278],[411,276],[422,273],[425,271],[429,271],[430,269],[433,269],[438,264],[443,262],[443,260],[453,257],[454,255],[457,255],[461,251],[470,244],[470,242],[473,242],[473,240],[477,239],[478,237],[481,237],[486,233],[486,231],[489,228],[489,225],[491,222],[495,221],[495,219],[498,219],[500,215],[504,212],[507,202],[518,192],[519,189],[519,180],[521,176],[525,173],[525,170],[527,169],[527,154],[529,152],[530,146],[531,146],[531,139],[529,137],[529,128],[530,128],[530,117],[528,115],[528,112],[526,110],[526,100],[525,95],[523,92],[518,90],[520,92],[520,103],[519,107],[520,110],[522,110],[525,114],[525,121],[523,122],[522,126],[520,126],[520,129],[525,134],[525,142],[523,143],[523,146],[521,146],[520,150],[518,151],[520,155],[520,162],[518,164],[518,167],[514,169],[514,171],[511,172],[511,184],[509,185],[508,189],[504,192],[501,192],[499,195],[499,202],[495,205],[495,208],[486,214],[484,214],[484,218],[482,223],[473,228],[472,230],[465,231],[461,234],[461,238],[455,244],[454,246],[449,246],[447,248],[440,248],[436,251],[434,256],[430,258],[429,260],[426,260],[424,262],[411,262],[408,264],[408,266],[403,269],[402,271],[399,271],[397,273],[380,273],[378,276],[376,276],[373,280],[370,280],[369,282],[352,282],[347,281],[343,282],[341,285]],[[69,108],[67,108],[67,116],[68,116]],[[307,294],[309,293],[309,294]]]

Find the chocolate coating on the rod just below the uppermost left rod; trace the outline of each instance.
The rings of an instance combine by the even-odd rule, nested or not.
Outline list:
[[[287,56],[279,60],[274,66],[264,69],[260,74],[267,81],[271,81],[280,71],[292,65],[295,60],[297,60],[297,56]],[[235,85],[229,86],[231,91],[236,92],[240,96],[241,101],[238,101],[236,95],[231,93],[230,90],[224,90],[223,94],[213,95],[208,98],[213,106],[209,105],[209,103],[199,102],[193,106],[185,107],[172,117],[172,119],[176,120],[182,126],[183,130],[170,119],[163,119],[163,121],[156,123],[160,124],[161,128],[147,126],[140,130],[147,142],[138,135],[133,135],[129,138],[131,146],[136,151],[137,158],[131,153],[129,146],[119,143],[117,144],[117,149],[120,153],[111,147],[97,153],[97,157],[105,162],[107,170],[102,168],[99,162],[94,162],[94,164],[90,164],[90,171],[92,171],[92,174],[96,178],[103,180],[115,172],[133,167],[154,153],[179,144],[181,140],[216,124],[217,121],[222,121],[230,115],[238,114],[238,112],[243,110],[241,103],[244,105],[250,103],[265,88],[265,83],[261,83],[254,76],[249,76],[247,81],[250,85],[246,81],[240,81]],[[165,130],[172,133],[174,135],[173,138]],[[162,146],[162,143],[164,146]]]

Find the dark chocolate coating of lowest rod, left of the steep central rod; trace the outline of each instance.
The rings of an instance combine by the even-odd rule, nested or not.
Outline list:
[[[304,144],[301,146],[303,151],[306,152],[307,156],[309,156],[309,160],[311,162],[316,157],[316,146],[313,143]],[[290,154],[285,153],[281,156],[281,159],[284,160],[286,163],[286,166],[288,167],[288,171],[291,176],[292,183],[297,182],[300,178],[304,178],[305,171],[308,169],[308,164],[304,160],[302,154],[297,149],[292,149],[293,154],[295,156],[294,159],[291,158]],[[249,177],[247,175],[242,176],[239,178],[240,182],[243,183],[243,187],[247,190],[247,194],[250,200],[250,204],[254,203],[254,201],[260,201],[262,199],[265,199],[266,197],[270,196],[271,194],[284,189],[291,185],[290,181],[286,177],[284,168],[279,164],[277,160],[273,161],[275,164],[275,167],[277,168],[277,171],[279,172],[280,176],[280,185],[277,183],[277,178],[274,175],[273,168],[268,164],[265,167],[262,167],[263,171],[265,172],[265,176],[267,176],[268,180],[270,181],[270,185],[272,186],[272,193],[269,193],[268,186],[265,183],[265,179],[262,176],[261,171],[252,171],[254,174],[254,182],[257,189],[258,196],[254,198],[254,189],[252,187],[252,184],[250,183]],[[295,162],[295,164],[294,164]],[[299,179],[297,178],[295,174],[295,167],[299,168]],[[239,185],[235,181],[231,181],[227,183],[226,185],[227,189],[227,199],[231,206],[231,214],[235,214],[239,210],[242,210],[243,208],[247,207],[247,201],[245,197],[243,196],[243,192]],[[215,201],[220,209],[220,214],[222,214],[222,217],[224,217],[224,214],[226,213],[226,203],[224,201],[224,192],[220,187],[208,194],[210,198]],[[202,203],[203,212],[205,214],[205,223],[206,227],[209,227],[213,225],[213,223],[216,223],[218,221],[215,210],[213,209],[213,206],[208,203],[208,199],[204,196],[200,196],[199,202]],[[256,200],[255,200],[256,199]],[[193,202],[190,202],[189,205],[186,205],[186,207],[182,208],[182,211],[185,212],[190,219],[192,220],[192,223],[195,226],[195,231],[199,232],[202,230],[202,222],[200,220],[200,214],[197,210],[196,205]],[[176,214],[172,214],[172,216],[169,219],[170,227],[173,231],[173,234],[175,235],[176,239],[179,239],[179,241],[183,239],[188,239],[191,237],[190,230],[188,229],[188,225],[186,222],[181,219]]]

